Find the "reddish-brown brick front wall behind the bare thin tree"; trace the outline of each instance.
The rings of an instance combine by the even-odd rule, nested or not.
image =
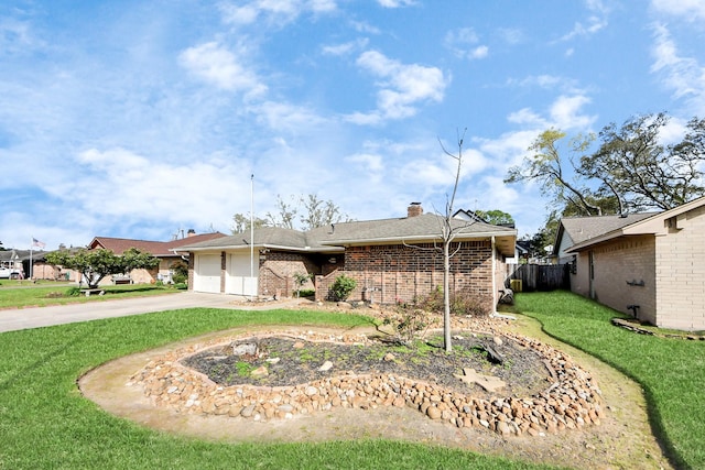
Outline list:
[[[451,258],[451,289],[476,293],[492,308],[491,260],[489,240],[463,242],[460,251]],[[345,252],[344,270],[317,278],[316,297],[327,298],[340,274],[357,281],[351,300],[369,300],[371,294],[375,303],[410,302],[443,286],[443,254],[433,244],[350,247]]]

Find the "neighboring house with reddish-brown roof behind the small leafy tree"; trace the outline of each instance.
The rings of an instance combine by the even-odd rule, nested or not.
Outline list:
[[[225,234],[220,232],[196,234],[193,230],[189,230],[185,238],[172,241],[148,241],[126,238],[96,237],[88,244],[88,249],[105,249],[112,251],[115,254],[122,254],[126,250],[135,248],[142,252],[147,252],[159,258],[159,266],[154,270],[132,270],[132,272],[124,273],[123,275],[106,276],[100,282],[100,284],[104,285],[120,283],[150,284],[156,281],[171,282],[173,275],[172,266],[180,261],[187,262],[187,260],[182,259],[181,254],[174,253],[173,249],[184,244],[215,240],[221,237],[225,237]]]

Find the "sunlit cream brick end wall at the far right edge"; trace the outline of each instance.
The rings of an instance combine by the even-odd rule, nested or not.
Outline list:
[[[657,325],[705,329],[705,208],[671,220],[657,237]]]

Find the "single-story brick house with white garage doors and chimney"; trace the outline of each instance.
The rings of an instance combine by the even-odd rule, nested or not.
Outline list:
[[[294,275],[314,278],[317,299],[341,274],[357,281],[354,300],[410,302],[443,286],[443,217],[409,207],[406,217],[341,222],[310,231],[264,228],[183,247],[189,252],[189,288],[198,292],[290,296]],[[449,285],[492,309],[503,287],[505,262],[517,230],[453,219]]]

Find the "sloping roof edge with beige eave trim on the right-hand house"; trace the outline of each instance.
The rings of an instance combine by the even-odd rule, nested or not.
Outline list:
[[[688,212],[693,209],[697,209],[705,206],[705,197],[685,203],[673,209],[664,210],[661,212],[644,212],[634,214],[634,217],[627,218],[622,223],[605,225],[604,230],[599,233],[593,233],[589,238],[573,239],[574,244],[566,250],[567,252],[577,252],[585,250],[597,243],[614,240],[620,237],[627,236],[641,236],[641,234],[657,234],[665,232],[665,220],[677,217],[682,214]],[[612,216],[619,217],[619,216]]]

